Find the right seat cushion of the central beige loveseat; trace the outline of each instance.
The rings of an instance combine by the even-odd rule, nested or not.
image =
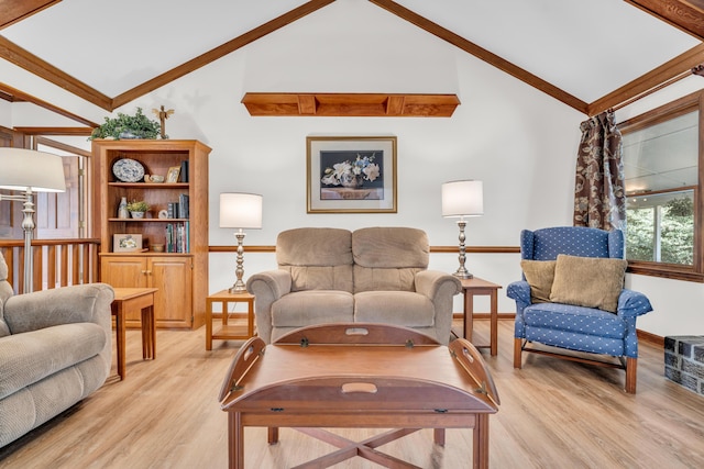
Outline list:
[[[432,301],[409,291],[365,291],[354,295],[354,321],[406,327],[435,325]]]

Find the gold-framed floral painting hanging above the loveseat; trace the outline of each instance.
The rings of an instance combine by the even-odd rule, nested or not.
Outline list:
[[[395,136],[306,137],[308,213],[396,213]]]

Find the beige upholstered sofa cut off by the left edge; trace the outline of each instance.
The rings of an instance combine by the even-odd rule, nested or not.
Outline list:
[[[0,447],[100,388],[113,291],[94,283],[12,295],[0,255]]]

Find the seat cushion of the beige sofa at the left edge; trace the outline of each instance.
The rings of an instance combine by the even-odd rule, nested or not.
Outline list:
[[[76,365],[106,346],[98,324],[75,323],[0,338],[0,399]]]

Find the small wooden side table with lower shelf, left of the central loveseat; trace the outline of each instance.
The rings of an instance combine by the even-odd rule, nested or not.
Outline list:
[[[212,304],[222,305],[222,326],[212,331]],[[228,303],[246,303],[246,330],[242,326],[228,324]],[[212,339],[242,340],[254,336],[254,295],[248,293],[230,293],[219,291],[206,298],[206,350],[212,350]]]

